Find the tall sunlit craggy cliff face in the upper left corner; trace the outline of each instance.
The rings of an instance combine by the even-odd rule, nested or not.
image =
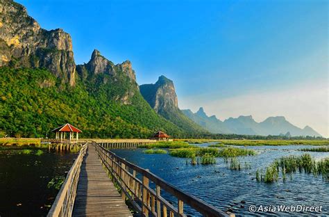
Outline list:
[[[26,8],[0,0],[0,66],[46,67],[63,82],[74,86],[75,69],[71,36],[47,31],[28,16]]]

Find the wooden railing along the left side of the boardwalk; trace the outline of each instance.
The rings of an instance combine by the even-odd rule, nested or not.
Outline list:
[[[74,200],[76,199],[76,188],[78,186],[81,163],[83,162],[83,156],[85,156],[86,152],[87,143],[81,147],[78,157],[67,173],[65,182],[62,184],[55,202],[53,202],[53,205],[49,210],[48,217],[71,216],[74,207]]]

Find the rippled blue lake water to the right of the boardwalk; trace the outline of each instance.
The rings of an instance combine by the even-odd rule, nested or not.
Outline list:
[[[208,143],[200,146],[208,146]],[[148,168],[167,182],[178,188],[201,198],[205,202],[226,211],[232,209],[236,216],[328,216],[329,215],[329,183],[321,176],[296,172],[292,179],[287,175],[285,182],[267,184],[257,182],[255,174],[257,169],[266,170],[274,159],[290,154],[301,155],[309,153],[311,156],[322,159],[328,157],[328,152],[301,152],[298,149],[314,147],[308,145],[286,146],[256,146],[242,147],[257,150],[256,156],[239,157],[242,170],[230,170],[230,164],[217,158],[214,165],[192,166],[186,159],[170,156],[169,154],[144,154],[144,149],[112,150],[119,156],[142,168]],[[251,169],[244,168],[244,162],[251,165]],[[164,195],[165,198],[177,204],[175,198]],[[245,204],[244,204],[245,202]],[[264,213],[253,214],[248,211],[251,205],[305,205],[322,206],[323,212],[318,213]],[[187,214],[196,216],[196,213],[184,207]]]

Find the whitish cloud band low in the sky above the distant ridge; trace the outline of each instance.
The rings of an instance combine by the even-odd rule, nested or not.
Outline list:
[[[209,97],[180,99],[182,108],[196,110],[203,106],[208,115],[223,120],[239,115],[253,115],[260,122],[269,116],[285,116],[297,127],[309,125],[319,134],[329,137],[328,81],[312,82],[284,90],[248,93],[225,99]]]

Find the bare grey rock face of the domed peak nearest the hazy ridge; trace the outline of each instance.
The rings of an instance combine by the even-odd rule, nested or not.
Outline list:
[[[174,83],[163,75],[159,77],[155,84],[141,85],[140,92],[157,113],[178,109]]]

